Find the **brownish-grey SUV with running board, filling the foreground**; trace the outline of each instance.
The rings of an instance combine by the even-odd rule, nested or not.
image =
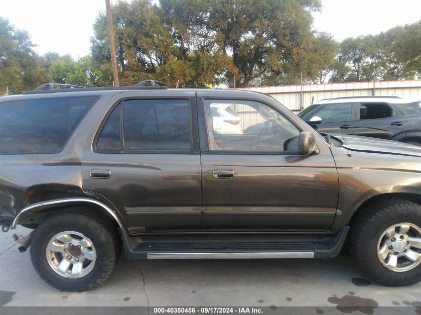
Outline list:
[[[227,104],[261,130],[215,132],[212,108]],[[33,229],[19,250],[30,246],[40,277],[65,291],[103,284],[121,250],[331,258],[345,240],[372,280],[416,283],[420,161],[406,143],[321,135],[249,91],[149,84],[0,98],[1,229]]]

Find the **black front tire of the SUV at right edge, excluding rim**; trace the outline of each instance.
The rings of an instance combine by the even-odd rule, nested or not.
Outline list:
[[[372,281],[391,287],[409,286],[421,280],[421,264],[396,272],[384,267],[377,257],[377,242],[382,233],[398,223],[421,227],[421,206],[407,200],[387,199],[358,210],[351,220],[348,246],[363,273]]]

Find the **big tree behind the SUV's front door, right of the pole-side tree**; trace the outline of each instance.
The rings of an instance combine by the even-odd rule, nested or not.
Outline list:
[[[311,12],[318,0],[161,0],[176,38],[193,39],[198,50],[232,56],[239,86],[256,78],[297,72],[311,49]],[[176,13],[180,13],[177,15]],[[180,27],[180,25],[182,27]],[[189,31],[190,30],[190,31]],[[231,70],[232,72],[234,70]],[[299,71],[298,71],[299,72]]]

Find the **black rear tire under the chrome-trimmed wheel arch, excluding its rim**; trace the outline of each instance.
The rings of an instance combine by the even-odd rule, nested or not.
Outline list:
[[[64,231],[82,233],[95,246],[97,259],[94,267],[81,278],[69,279],[59,275],[47,261],[48,242]],[[38,226],[31,239],[30,256],[38,275],[52,287],[62,291],[87,291],[102,285],[110,277],[120,253],[119,245],[119,235],[111,222],[72,211],[50,216]]]

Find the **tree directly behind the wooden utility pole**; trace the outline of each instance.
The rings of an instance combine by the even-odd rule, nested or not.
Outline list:
[[[113,6],[120,82],[133,85],[155,79],[183,87],[221,81],[218,77],[232,68],[231,57],[205,48],[197,36],[194,42],[189,24],[170,13],[164,2],[158,6],[147,0],[120,1]],[[96,19],[94,34],[91,51],[93,64],[100,69],[98,82],[110,83],[111,56],[104,12]]]

